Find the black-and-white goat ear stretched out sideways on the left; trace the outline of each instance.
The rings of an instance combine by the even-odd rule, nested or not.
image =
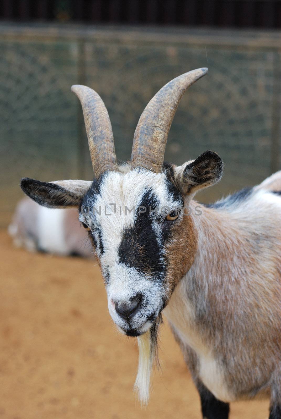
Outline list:
[[[91,184],[91,181],[40,182],[30,178],[21,179],[24,193],[47,208],[78,207]]]

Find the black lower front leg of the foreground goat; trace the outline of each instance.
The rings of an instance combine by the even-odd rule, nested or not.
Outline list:
[[[205,385],[198,385],[202,415],[207,419],[228,419],[229,404],[218,400]]]

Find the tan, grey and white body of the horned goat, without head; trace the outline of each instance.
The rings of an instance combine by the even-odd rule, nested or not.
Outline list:
[[[279,391],[280,191],[278,172],[202,206],[194,263],[164,310],[195,382],[225,402]]]

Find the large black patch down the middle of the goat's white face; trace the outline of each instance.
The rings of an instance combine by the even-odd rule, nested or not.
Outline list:
[[[134,227],[125,229],[118,249],[119,262],[160,278],[165,273],[165,266],[152,228],[153,214],[150,214],[150,207],[152,210],[159,207],[152,190],[144,194],[140,207],[145,207],[147,211],[137,211]]]

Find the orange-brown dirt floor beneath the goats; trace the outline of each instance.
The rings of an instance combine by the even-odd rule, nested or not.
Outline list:
[[[149,406],[132,391],[138,350],[111,320],[95,262],[27,253],[0,232],[0,418],[200,419],[197,391],[168,326]],[[231,419],[266,419],[267,401]]]

